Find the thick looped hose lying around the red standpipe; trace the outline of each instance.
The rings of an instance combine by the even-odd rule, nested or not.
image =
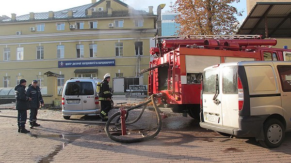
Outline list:
[[[114,141],[116,141],[116,142],[121,142],[121,143],[136,143],[136,142],[146,141],[146,140],[152,139],[152,138],[154,138],[155,136],[157,136],[158,133],[160,133],[161,128],[162,128],[162,117],[161,117],[161,115],[160,115],[160,112],[161,112],[161,111],[160,111],[160,109],[158,108],[158,106],[157,106],[157,104],[156,104],[156,102],[155,102],[155,98],[156,98],[156,97],[159,97],[159,95],[158,95],[158,94],[153,94],[153,95],[151,95],[145,103],[142,103],[142,104],[139,104],[139,105],[136,105],[136,106],[130,107],[129,109],[127,109],[127,113],[126,113],[126,114],[128,114],[130,110],[135,109],[135,108],[138,108],[138,107],[140,107],[140,106],[142,106],[142,105],[144,105],[144,108],[146,108],[146,104],[148,104],[149,102],[152,102],[152,103],[153,103],[153,106],[154,106],[154,108],[155,108],[155,111],[156,111],[157,118],[158,118],[158,119],[157,119],[157,120],[158,120],[158,122],[157,122],[157,123],[158,123],[158,127],[157,127],[157,130],[156,130],[153,134],[148,135],[148,136],[145,136],[145,137],[141,137],[141,138],[133,138],[133,139],[122,139],[122,138],[117,138],[117,137],[113,136],[113,135],[109,132],[109,125],[111,124],[110,122],[111,122],[115,117],[120,116],[121,113],[120,113],[120,112],[116,112],[115,114],[113,114],[113,115],[108,119],[108,121],[107,121],[107,123],[106,123],[106,125],[105,125],[105,133],[106,133],[106,135],[107,135],[110,139],[112,139],[112,140],[114,140]],[[149,100],[149,99],[151,99],[151,100]],[[143,108],[142,112],[144,111],[144,108]],[[129,124],[129,123],[132,124],[132,123],[136,122],[138,119],[140,119],[140,117],[141,117],[141,114],[138,116],[137,119],[134,119],[133,121],[130,121],[130,122],[126,122],[126,124]]]

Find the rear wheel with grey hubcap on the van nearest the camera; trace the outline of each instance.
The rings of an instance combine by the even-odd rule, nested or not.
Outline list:
[[[285,128],[280,120],[268,119],[264,123],[264,137],[265,140],[260,140],[259,143],[265,148],[279,147],[285,137]]]

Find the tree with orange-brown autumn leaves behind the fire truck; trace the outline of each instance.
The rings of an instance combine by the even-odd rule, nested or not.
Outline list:
[[[240,0],[176,0],[172,10],[178,15],[180,35],[235,34],[242,12],[230,4]]]

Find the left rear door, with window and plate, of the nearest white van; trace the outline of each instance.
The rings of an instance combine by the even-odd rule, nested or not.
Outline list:
[[[202,114],[203,120],[222,125],[220,68],[210,68],[203,72]]]

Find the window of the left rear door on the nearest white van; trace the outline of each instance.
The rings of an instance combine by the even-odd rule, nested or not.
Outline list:
[[[219,69],[210,69],[203,72],[203,93],[214,94],[215,93],[215,82],[216,74],[219,78]]]

